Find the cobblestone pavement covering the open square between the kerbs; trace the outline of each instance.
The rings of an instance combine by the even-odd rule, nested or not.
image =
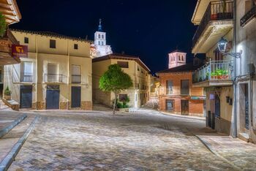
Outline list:
[[[42,113],[10,170],[233,170],[188,132],[203,126],[147,110]]]

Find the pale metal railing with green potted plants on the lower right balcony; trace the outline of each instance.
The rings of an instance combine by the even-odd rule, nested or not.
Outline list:
[[[210,61],[193,73],[193,83],[207,80],[233,80],[233,60]]]

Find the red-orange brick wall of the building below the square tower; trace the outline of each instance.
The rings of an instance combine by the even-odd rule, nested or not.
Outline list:
[[[159,110],[166,110],[166,99],[174,99],[173,113],[181,114],[181,99],[189,100],[189,115],[203,116],[203,100],[192,100],[191,96],[203,96],[203,88],[192,88],[192,72],[159,74],[161,83]],[[173,81],[173,94],[166,95],[166,81]],[[189,80],[189,96],[181,96],[181,80]]]

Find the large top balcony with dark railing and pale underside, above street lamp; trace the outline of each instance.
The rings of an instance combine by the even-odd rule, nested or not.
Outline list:
[[[197,18],[200,18],[204,9],[198,6],[200,9],[194,15],[198,13]],[[199,24],[192,39],[192,53],[207,53],[233,28],[233,1],[211,1],[202,16],[200,22],[192,21]]]

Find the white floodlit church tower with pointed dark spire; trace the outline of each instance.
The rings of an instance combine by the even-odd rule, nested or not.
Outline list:
[[[91,45],[91,56],[98,58],[112,54],[110,45],[106,42],[106,33],[102,31],[101,20],[99,20],[99,29],[94,34],[94,44]]]

